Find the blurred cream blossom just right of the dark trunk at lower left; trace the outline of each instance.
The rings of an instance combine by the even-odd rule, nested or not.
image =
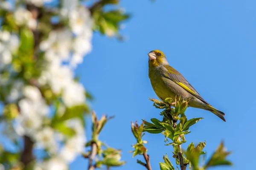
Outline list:
[[[58,145],[54,136],[52,127],[44,127],[35,134],[35,141],[38,147],[47,148],[50,153],[55,154],[58,150]]]

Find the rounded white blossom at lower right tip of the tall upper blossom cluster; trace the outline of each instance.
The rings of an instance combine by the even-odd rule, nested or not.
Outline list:
[[[81,105],[85,102],[84,86],[72,81],[63,90],[62,99],[67,107]]]

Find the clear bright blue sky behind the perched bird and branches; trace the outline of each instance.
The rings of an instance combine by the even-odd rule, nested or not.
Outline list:
[[[98,33],[93,37],[93,51],[76,73],[95,97],[92,108],[116,115],[104,128],[100,139],[122,149],[125,166],[113,169],[144,170],[134,159],[131,144],[131,121],[161,119],[148,97],[157,98],[148,79],[148,52],[160,49],[172,67],[194,86],[215,108],[226,113],[227,122],[214,114],[195,108],[186,111],[188,118],[204,117],[186,136],[190,142],[204,142],[207,158],[224,140],[233,154],[233,167],[215,170],[241,170],[256,153],[254,129],[256,92],[256,1],[255,0],[140,0],[121,2],[131,19],[122,34],[125,42]],[[87,121],[90,138],[90,118]],[[163,154],[172,156],[172,146],[164,145],[162,134],[144,137],[154,170],[159,169]],[[172,163],[175,164],[174,159]],[[78,158],[71,170],[87,167]]]

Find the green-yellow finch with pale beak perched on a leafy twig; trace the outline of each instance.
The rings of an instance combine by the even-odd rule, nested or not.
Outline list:
[[[213,108],[205,101],[195,88],[175,68],[169,65],[162,51],[150,51],[148,57],[148,77],[160,100],[175,99],[175,97],[180,96],[183,99],[189,99],[188,107],[210,111],[226,122],[225,113]]]

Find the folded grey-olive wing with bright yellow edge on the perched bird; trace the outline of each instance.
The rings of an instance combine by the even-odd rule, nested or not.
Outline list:
[[[164,65],[167,69],[167,72],[165,73],[165,77],[168,79],[171,79],[173,82],[175,82],[177,85],[188,91],[193,96],[197,97],[198,99],[201,99],[202,101],[206,102],[200,94],[195,90],[195,88],[192,87],[192,85],[174,68],[172,68],[170,65]],[[206,102],[209,104],[208,102]]]

